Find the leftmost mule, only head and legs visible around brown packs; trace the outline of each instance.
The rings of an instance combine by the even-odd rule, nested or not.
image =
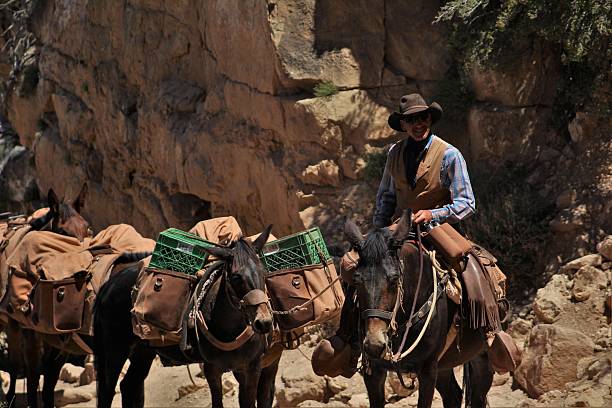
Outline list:
[[[72,204],[60,201],[53,189],[47,195],[49,212],[31,222],[33,230],[52,231],[84,240],[91,235],[89,223],[80,215],[87,195],[87,184]],[[64,359],[58,350],[45,345],[42,336],[32,330],[23,329],[19,323],[9,319],[6,327],[9,364],[11,370],[6,399],[9,405],[15,401],[15,383],[22,374],[27,380],[28,406],[38,406],[38,383],[44,375],[42,399],[45,407],[54,406],[54,390]]]

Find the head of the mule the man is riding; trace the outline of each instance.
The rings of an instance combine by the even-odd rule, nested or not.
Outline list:
[[[363,351],[372,358],[381,358],[388,350],[389,324],[401,275],[398,249],[408,237],[411,219],[412,213],[406,211],[393,228],[374,229],[367,237],[352,221],[344,228],[347,240],[359,253],[353,282],[365,327]]]

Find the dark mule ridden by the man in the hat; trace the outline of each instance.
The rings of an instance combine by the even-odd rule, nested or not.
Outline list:
[[[466,405],[485,407],[493,371],[489,367],[486,341],[480,332],[463,329],[459,347],[451,345],[438,361],[458,312],[458,306],[447,298],[443,286],[438,286],[440,296],[434,300],[435,309],[420,342],[403,358],[398,354],[398,351],[410,349],[417,341],[427,320],[428,313],[417,313],[420,319],[410,327],[403,348],[398,350],[403,343],[415,296],[414,310],[419,311],[430,299],[434,286],[429,256],[425,254],[421,258],[418,247],[406,241],[411,230],[411,217],[411,213],[406,212],[395,232],[387,228],[375,229],[369,232],[367,238],[351,221],[347,221],[345,226],[345,235],[360,256],[354,282],[360,313],[363,376],[370,406],[384,406],[385,379],[387,371],[393,370],[416,373],[419,380],[419,408],[431,407],[434,388],[440,392],[445,408],[459,408],[462,390],[453,375],[453,367],[465,364]],[[398,290],[398,287],[402,290]],[[396,307],[398,295],[401,295],[401,304],[398,303]],[[394,326],[397,328],[395,331]],[[391,358],[393,354],[395,361]]]

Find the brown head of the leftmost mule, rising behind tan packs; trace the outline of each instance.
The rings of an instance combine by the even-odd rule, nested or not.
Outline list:
[[[83,241],[92,235],[89,223],[80,214],[87,196],[87,183],[83,184],[81,192],[72,204],[60,200],[53,189],[49,189],[47,201],[49,203],[48,216],[51,218],[51,231],[67,235]]]

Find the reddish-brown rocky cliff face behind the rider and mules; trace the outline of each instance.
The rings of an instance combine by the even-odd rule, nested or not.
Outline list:
[[[421,92],[443,103],[435,130],[470,165],[525,169],[556,205],[548,261],[610,230],[609,119],[586,107],[568,129],[551,125],[561,61],[537,42],[473,70],[469,104],[449,98],[457,62],[431,24],[438,1],[33,4],[23,64],[0,61],[12,76],[2,114],[41,191],[71,196],[89,182],[98,228],[128,222],[152,236],[232,214],[249,233],[335,234],[345,215],[369,221],[365,160],[398,139],[386,126],[398,97]],[[323,80],[340,91],[313,97]]]

